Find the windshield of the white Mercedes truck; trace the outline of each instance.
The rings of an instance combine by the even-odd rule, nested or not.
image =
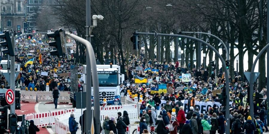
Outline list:
[[[116,87],[118,85],[117,74],[98,74],[99,87]]]

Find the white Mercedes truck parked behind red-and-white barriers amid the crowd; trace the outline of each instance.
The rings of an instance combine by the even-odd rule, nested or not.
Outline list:
[[[122,84],[124,81],[124,74],[120,74],[120,66],[97,65],[96,67],[97,67],[98,80],[99,80],[100,105],[103,105],[103,100],[105,98],[108,105],[121,105],[120,84]],[[83,65],[82,80],[84,81],[84,84],[86,84],[86,80],[85,80],[86,73],[87,73],[86,65]],[[84,86],[83,89],[84,88],[86,89],[88,87]],[[94,101],[93,87],[91,87],[91,90],[92,90],[91,99],[92,99],[92,104],[93,104],[93,101]],[[76,100],[75,98],[76,98],[75,94],[71,95],[71,99],[73,103],[75,103],[74,102],[74,100]]]

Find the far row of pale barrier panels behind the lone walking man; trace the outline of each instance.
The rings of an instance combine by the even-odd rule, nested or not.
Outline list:
[[[21,100],[28,102],[53,102],[51,91],[25,91],[21,90]],[[60,91],[58,102],[70,102],[70,92]]]

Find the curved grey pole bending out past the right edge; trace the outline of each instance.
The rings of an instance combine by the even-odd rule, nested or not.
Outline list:
[[[259,58],[261,57],[262,54],[264,54],[264,52],[266,51],[266,49],[269,48],[269,43],[259,52],[259,54],[257,55],[256,59],[254,60],[254,63],[252,65],[252,68],[251,68],[251,72],[250,72],[250,93],[248,93],[248,96],[249,97],[249,106],[250,106],[250,117],[253,117],[252,118],[252,121],[254,119],[254,104],[253,104],[253,94],[254,94],[254,69],[255,69],[255,66],[257,64],[257,61],[259,60]],[[268,66],[268,63],[267,63],[267,66]],[[268,73],[268,72],[267,72]],[[268,78],[267,78],[268,79]],[[267,90],[268,90],[268,87],[267,87]],[[268,99],[267,99],[268,100]],[[267,114],[267,113],[266,113]]]

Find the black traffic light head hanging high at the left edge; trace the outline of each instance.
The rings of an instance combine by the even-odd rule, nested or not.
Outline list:
[[[0,42],[1,46],[7,47],[7,49],[2,50],[3,54],[8,54],[9,56],[15,56],[14,49],[12,47],[10,32],[5,32],[0,34],[0,38],[5,39],[6,41]]]

